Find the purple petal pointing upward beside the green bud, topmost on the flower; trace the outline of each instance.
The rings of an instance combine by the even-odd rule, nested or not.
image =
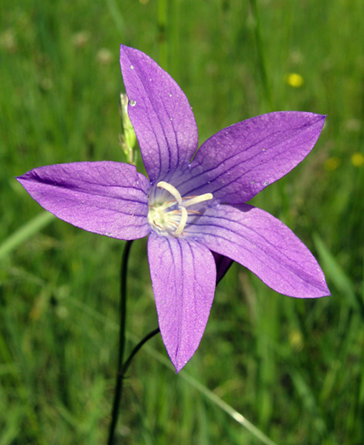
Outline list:
[[[187,165],[197,149],[195,117],[179,85],[144,52],[120,47],[128,113],[152,182]]]

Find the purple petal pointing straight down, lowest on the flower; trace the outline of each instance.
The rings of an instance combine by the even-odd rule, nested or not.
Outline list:
[[[195,353],[209,319],[216,283],[214,257],[195,241],[152,232],[148,260],[160,332],[179,372]]]

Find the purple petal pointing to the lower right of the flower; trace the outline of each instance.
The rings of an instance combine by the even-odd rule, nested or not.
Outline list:
[[[330,295],[314,256],[274,216],[248,204],[220,205],[185,229],[188,239],[247,267],[270,288],[290,297]]]

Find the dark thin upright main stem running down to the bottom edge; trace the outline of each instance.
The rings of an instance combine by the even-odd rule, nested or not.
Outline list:
[[[123,391],[123,358],[125,349],[125,320],[127,309],[127,262],[129,260],[130,248],[133,241],[127,241],[125,244],[123,259],[120,269],[120,339],[119,339],[119,357],[118,374],[116,374],[115,395],[113,400],[113,411],[111,412],[111,424],[109,430],[108,445],[113,445],[113,437],[118,422],[119,406]]]

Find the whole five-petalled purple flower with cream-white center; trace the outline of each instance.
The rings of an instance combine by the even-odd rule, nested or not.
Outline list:
[[[248,119],[211,136],[193,157],[197,127],[180,87],[138,50],[122,45],[120,64],[149,179],[130,164],[75,162],[39,167],[18,181],[77,227],[117,239],[149,235],[160,331],[179,372],[206,327],[216,264],[218,278],[230,258],[285,295],[330,295],[293,232],[245,204],[304,159],[325,116],[290,111]]]

